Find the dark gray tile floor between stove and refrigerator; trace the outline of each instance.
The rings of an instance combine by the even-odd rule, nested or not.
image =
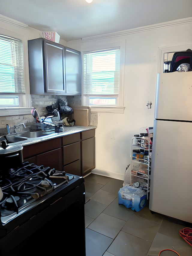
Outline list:
[[[158,256],[164,249],[192,255],[192,246],[179,235],[192,224],[152,214],[148,206],[135,212],[119,205],[122,180],[93,173],[84,179],[86,256]],[[177,254],[161,253],[167,255]]]

